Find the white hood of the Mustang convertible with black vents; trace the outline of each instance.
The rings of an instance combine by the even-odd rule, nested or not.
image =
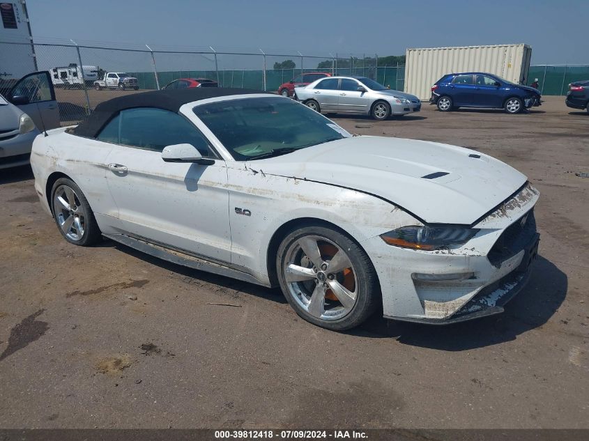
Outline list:
[[[247,167],[374,194],[436,224],[471,225],[526,183],[475,150],[390,137],[339,139]]]

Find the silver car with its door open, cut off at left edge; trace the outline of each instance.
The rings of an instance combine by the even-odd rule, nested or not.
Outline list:
[[[0,169],[29,164],[40,130],[59,127],[59,109],[49,72],[33,72],[0,95]]]

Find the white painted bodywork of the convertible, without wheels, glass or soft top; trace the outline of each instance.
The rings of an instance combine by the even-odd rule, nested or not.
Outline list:
[[[181,107],[180,113],[222,157],[213,165],[167,163],[159,153],[78,137],[65,129],[38,136],[31,164],[45,210],[47,180],[63,173],[82,189],[109,237],[122,233],[227,263],[265,286],[273,283],[268,268],[276,256],[268,255],[268,247],[275,233],[298,219],[320,219],[365,249],[378,274],[385,316],[406,320],[450,318],[523,261],[523,251],[500,264],[487,256],[505,229],[531,212],[538,199],[519,171],[473,150],[348,137],[343,129],[346,138],[338,141],[264,160],[232,160],[192,108],[256,96]],[[128,170],[122,176],[109,164],[125,164]],[[436,172],[448,174],[422,177]],[[424,223],[471,225],[480,231],[464,245],[435,252],[387,245],[380,237]],[[436,283],[415,279],[415,274],[462,273],[473,275]]]

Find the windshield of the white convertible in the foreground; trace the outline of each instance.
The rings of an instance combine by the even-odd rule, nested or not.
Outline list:
[[[283,155],[351,136],[316,111],[279,97],[211,102],[193,111],[238,161]]]

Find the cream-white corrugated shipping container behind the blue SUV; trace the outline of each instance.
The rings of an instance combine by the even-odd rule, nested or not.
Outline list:
[[[404,91],[417,95],[420,100],[429,100],[431,86],[438,79],[458,72],[487,72],[525,84],[531,56],[532,47],[523,43],[407,49]]]

